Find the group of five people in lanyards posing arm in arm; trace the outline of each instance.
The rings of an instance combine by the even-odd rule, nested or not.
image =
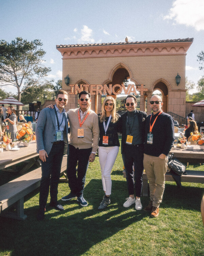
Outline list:
[[[49,189],[50,206],[64,210],[57,201],[63,154],[68,156],[70,193],[62,200],[75,198],[82,207],[88,205],[83,196],[86,172],[89,162],[95,160],[98,146],[104,190],[98,209],[107,207],[111,201],[111,171],[120,146],[118,132],[122,133],[121,153],[129,193],[123,206],[130,207],[135,203],[136,210],[142,209],[140,197],[145,168],[150,186],[150,202],[144,210],[150,211],[152,217],[157,217],[164,193],[167,156],[174,143],[173,118],[162,111],[162,98],[152,96],[150,106],[153,113],[149,116],[136,110],[137,99],[133,95],[126,97],[127,111],[121,116],[116,113],[116,102],[111,96],[104,99],[99,115],[90,109],[91,96],[87,91],[79,94],[77,109],[65,111],[68,95],[64,90],[58,91],[55,102],[54,106],[40,112],[35,130],[37,152],[42,163],[37,219],[44,219]]]

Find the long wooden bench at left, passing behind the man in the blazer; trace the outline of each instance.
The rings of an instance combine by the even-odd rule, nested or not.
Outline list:
[[[63,156],[61,167],[61,176],[64,175],[65,179],[60,180],[64,182],[68,181],[65,174],[66,169],[67,155]],[[24,196],[38,188],[40,186],[40,180],[41,167],[0,186],[0,216],[18,220],[26,219],[27,215],[24,214]],[[8,211],[2,212],[14,203],[17,203],[16,213]]]

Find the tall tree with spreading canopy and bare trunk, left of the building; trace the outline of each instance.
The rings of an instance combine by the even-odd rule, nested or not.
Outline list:
[[[42,64],[46,54],[42,45],[38,39],[29,42],[19,37],[11,43],[0,41],[0,86],[15,86],[19,101],[24,83],[27,89],[28,86],[36,86],[51,71]]]

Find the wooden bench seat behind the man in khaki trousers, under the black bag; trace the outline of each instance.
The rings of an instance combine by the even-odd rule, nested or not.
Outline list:
[[[187,175],[181,176],[181,182],[204,184],[204,171],[186,170],[186,172],[187,172]],[[147,179],[146,172],[143,173],[142,179],[143,179],[142,195],[149,196],[148,195],[148,179]],[[174,181],[172,175],[168,172],[165,174],[165,181]]]

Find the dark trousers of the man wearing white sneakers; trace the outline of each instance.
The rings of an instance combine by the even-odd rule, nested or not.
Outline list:
[[[141,197],[142,193],[142,174],[143,174],[143,154],[144,145],[128,145],[124,144],[124,149],[122,153],[122,159],[126,172],[126,181],[128,186],[129,195]],[[133,171],[133,164],[134,169]]]

